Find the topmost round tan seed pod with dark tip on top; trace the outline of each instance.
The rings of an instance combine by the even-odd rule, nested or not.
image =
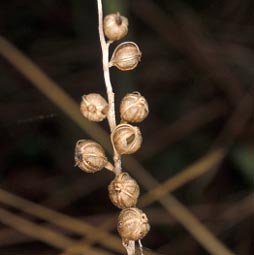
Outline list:
[[[128,33],[128,19],[119,12],[109,14],[103,20],[103,28],[110,41],[120,40]]]

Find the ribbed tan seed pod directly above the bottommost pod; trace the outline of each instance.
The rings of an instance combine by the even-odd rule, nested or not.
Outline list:
[[[126,172],[122,172],[109,184],[109,197],[112,203],[121,209],[133,207],[139,197],[137,182]]]

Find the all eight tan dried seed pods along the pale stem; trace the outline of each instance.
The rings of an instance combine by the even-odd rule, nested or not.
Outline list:
[[[128,19],[119,13],[104,17],[104,35],[109,41],[122,39],[128,33]],[[113,51],[109,66],[119,70],[134,69],[141,59],[139,47],[134,42],[123,42]],[[100,94],[82,96],[80,104],[82,115],[90,121],[100,122],[107,118],[109,106]],[[135,153],[142,144],[142,134],[133,123],[142,122],[148,115],[146,99],[139,92],[125,95],[120,103],[120,124],[111,132],[111,143],[119,155]],[[131,124],[130,124],[131,123]],[[81,170],[95,173],[103,168],[114,171],[102,146],[92,140],[82,139],[76,143],[75,162]],[[115,176],[108,186],[109,198],[121,209],[117,230],[124,242],[141,240],[149,231],[146,214],[136,207],[140,194],[139,185],[127,173]]]

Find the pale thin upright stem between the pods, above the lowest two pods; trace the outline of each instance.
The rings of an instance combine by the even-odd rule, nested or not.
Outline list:
[[[112,43],[111,41],[106,42],[104,32],[103,32],[103,10],[101,0],[97,0],[98,5],[98,19],[99,19],[99,37],[102,49],[102,65],[103,65],[103,74],[108,96],[108,123],[110,131],[114,130],[116,127],[116,114],[115,114],[115,94],[112,89],[110,72],[109,72],[109,46]],[[113,145],[113,144],[112,144]],[[113,146],[114,148],[114,146]],[[114,148],[114,172],[116,175],[120,174],[122,171],[121,168],[121,156]]]

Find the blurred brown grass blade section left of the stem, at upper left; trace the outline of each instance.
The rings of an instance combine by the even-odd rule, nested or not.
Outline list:
[[[107,139],[108,134],[105,130],[99,125],[83,118],[77,103],[50,79],[46,73],[34,65],[30,59],[2,36],[0,36],[0,54],[88,135],[96,138],[108,151],[111,151],[111,145],[109,139]]]

